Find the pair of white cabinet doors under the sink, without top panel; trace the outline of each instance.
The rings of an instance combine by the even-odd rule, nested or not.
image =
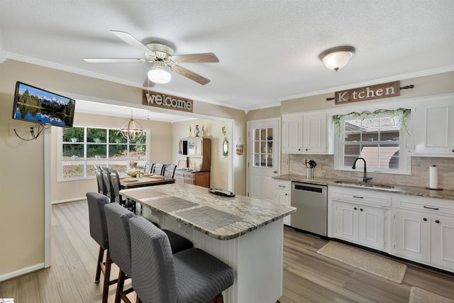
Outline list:
[[[384,209],[334,202],[336,238],[384,250]]]

